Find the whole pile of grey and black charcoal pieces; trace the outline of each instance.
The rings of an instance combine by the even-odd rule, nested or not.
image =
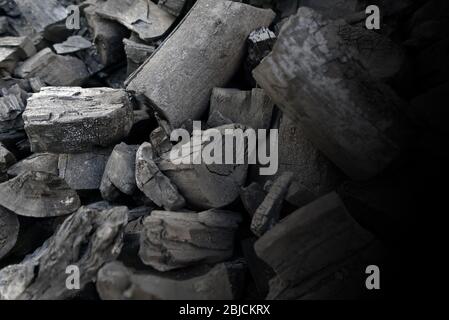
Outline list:
[[[0,300],[370,297],[447,163],[448,25],[445,0],[0,0]],[[174,158],[194,123],[277,170]]]

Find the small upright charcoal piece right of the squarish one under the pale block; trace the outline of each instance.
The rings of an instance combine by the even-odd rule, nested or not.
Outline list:
[[[101,179],[100,191],[104,199],[112,201],[120,192],[132,195],[136,191],[135,169],[138,148],[139,146],[129,146],[125,143],[115,146]]]

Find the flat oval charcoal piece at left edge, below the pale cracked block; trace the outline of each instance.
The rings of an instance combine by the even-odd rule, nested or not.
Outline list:
[[[21,216],[56,217],[75,212],[81,202],[58,176],[28,171],[0,184],[0,205]]]

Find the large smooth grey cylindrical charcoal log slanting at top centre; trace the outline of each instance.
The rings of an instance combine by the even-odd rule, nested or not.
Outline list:
[[[151,59],[130,76],[127,87],[143,93],[174,128],[185,119],[197,120],[212,89],[224,86],[239,68],[249,33],[273,18],[271,10],[237,2],[197,1]]]

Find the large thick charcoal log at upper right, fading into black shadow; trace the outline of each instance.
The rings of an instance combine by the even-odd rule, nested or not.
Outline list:
[[[300,8],[253,75],[332,162],[367,179],[398,154],[400,102],[339,36],[342,23]]]

